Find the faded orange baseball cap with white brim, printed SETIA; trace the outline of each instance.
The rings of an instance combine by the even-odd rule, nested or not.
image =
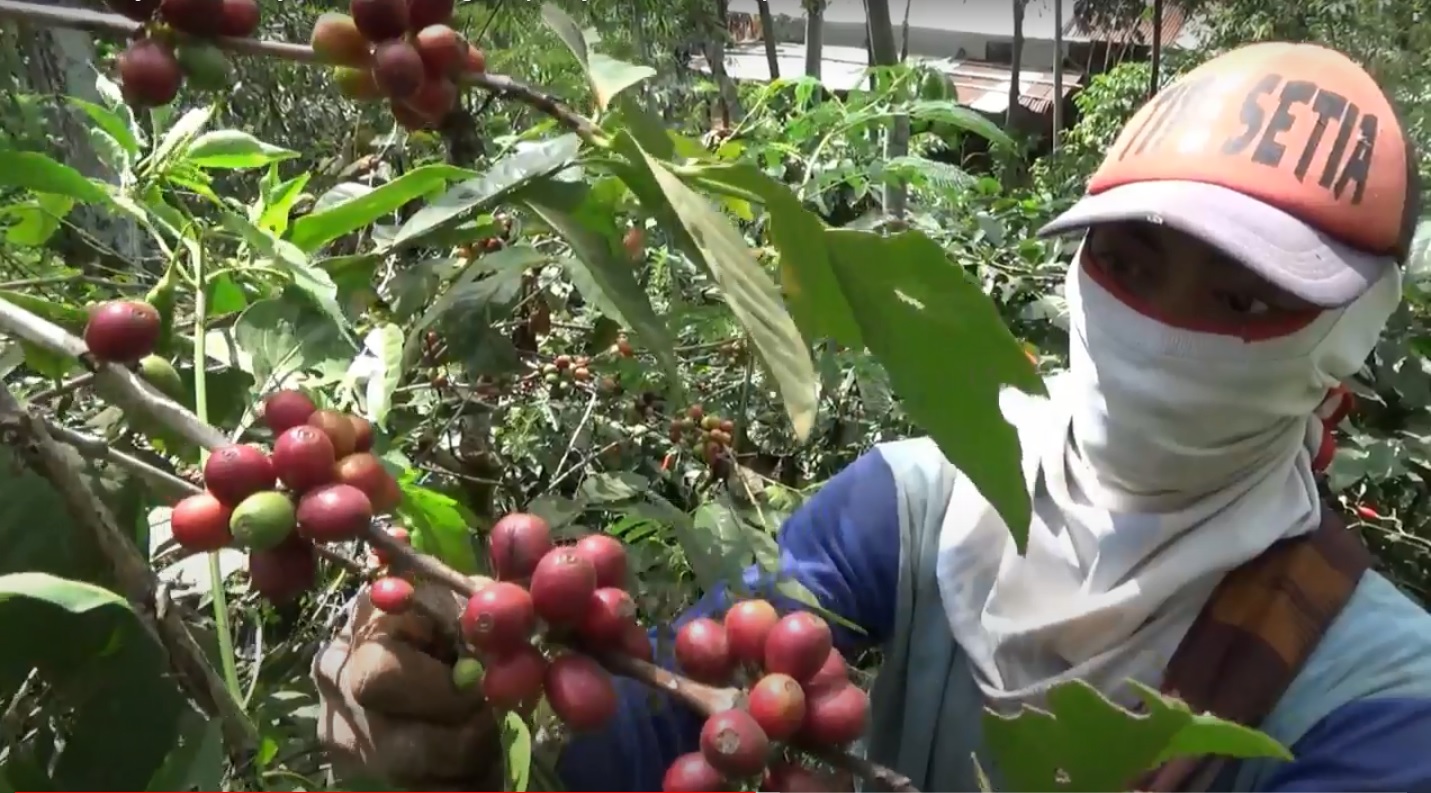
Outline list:
[[[1405,262],[1420,198],[1411,143],[1371,74],[1327,47],[1265,43],[1143,104],[1088,195],[1039,235],[1166,223],[1338,308]]]

